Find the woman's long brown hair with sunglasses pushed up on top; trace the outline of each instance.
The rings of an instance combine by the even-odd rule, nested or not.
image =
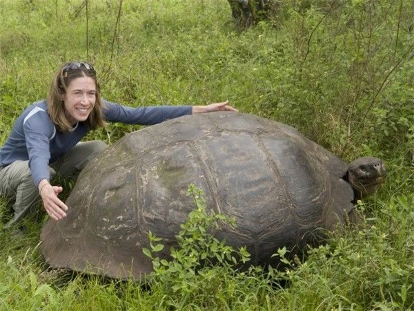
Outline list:
[[[86,123],[90,129],[97,129],[99,126],[106,126],[103,120],[103,103],[101,99],[101,87],[99,86],[95,69],[92,65],[83,62],[68,62],[63,64],[53,75],[52,83],[47,97],[48,113],[52,122],[57,126],[58,131],[68,132],[72,129],[72,124],[68,122],[65,115],[65,105],[63,104],[62,95],[73,79],[78,77],[91,77],[96,86],[96,100]]]

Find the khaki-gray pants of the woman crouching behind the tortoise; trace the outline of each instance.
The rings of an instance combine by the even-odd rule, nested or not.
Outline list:
[[[88,161],[106,147],[100,140],[79,142],[50,165],[50,176],[59,173],[63,177],[77,177]],[[19,221],[37,202],[41,202],[39,189],[34,185],[28,161],[18,160],[0,170],[0,195],[14,199],[14,216],[6,224],[5,229]]]

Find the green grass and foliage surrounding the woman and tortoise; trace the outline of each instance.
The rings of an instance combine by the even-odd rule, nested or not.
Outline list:
[[[23,235],[0,233],[1,310],[414,309],[414,2],[275,3],[267,21],[239,28],[226,0],[0,0],[0,144],[61,63],[86,60],[108,100],[230,100],[344,160],[383,158],[388,180],[360,205],[364,225],[287,272],[211,267],[170,290],[167,276],[143,288],[47,270],[43,213]],[[138,128],[112,124],[88,139],[112,143]],[[1,199],[2,220],[9,208]]]

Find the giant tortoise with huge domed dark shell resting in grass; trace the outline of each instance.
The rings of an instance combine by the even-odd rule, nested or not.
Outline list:
[[[318,228],[343,223],[355,199],[384,178],[381,160],[348,165],[286,124],[233,112],[179,117],[130,133],[91,160],[66,218],[43,227],[41,249],[52,267],[140,279],[152,270],[142,251],[148,231],[164,239],[157,255],[167,258],[194,209],[186,197],[193,183],[208,209],[235,218],[217,237],[268,265],[279,247],[301,249]]]

